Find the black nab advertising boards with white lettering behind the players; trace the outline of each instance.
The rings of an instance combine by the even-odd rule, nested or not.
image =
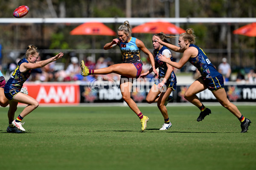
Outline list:
[[[91,84],[80,85],[81,103],[90,102],[122,102],[121,89],[118,83],[93,82]],[[146,102],[148,91],[154,82],[135,82],[131,88],[131,98],[134,102]],[[190,85],[190,84],[189,84]],[[188,102],[184,98],[189,85],[177,85],[173,91],[173,102]],[[227,98],[230,102],[256,102],[256,85],[237,85],[229,83],[224,86]],[[202,102],[218,102],[215,96],[208,89],[196,94]]]

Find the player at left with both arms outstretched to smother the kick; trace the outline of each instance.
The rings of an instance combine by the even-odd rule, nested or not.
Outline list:
[[[9,127],[17,127],[20,131],[26,131],[21,123],[22,119],[35,110],[38,107],[38,102],[28,96],[27,94],[20,93],[20,90],[23,86],[23,83],[29,78],[31,74],[31,70],[35,68],[41,68],[45,65],[60,59],[64,54],[61,52],[57,54],[55,57],[51,57],[49,59],[38,61],[39,53],[37,47],[35,45],[29,45],[26,51],[26,58],[21,59],[17,63],[17,68],[11,75],[10,79],[6,82],[4,87],[4,94],[6,98],[9,100],[9,111],[8,111],[8,119],[9,119]],[[17,119],[14,120],[15,111],[17,110],[18,102],[26,104],[26,108],[19,114]]]

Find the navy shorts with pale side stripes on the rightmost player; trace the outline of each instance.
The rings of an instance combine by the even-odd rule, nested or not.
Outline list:
[[[216,91],[219,88],[224,88],[224,79],[222,75],[218,75],[212,78],[199,77],[204,81],[204,84],[210,91]]]

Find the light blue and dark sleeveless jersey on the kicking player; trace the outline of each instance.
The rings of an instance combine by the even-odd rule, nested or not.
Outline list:
[[[131,37],[129,42],[120,42],[119,48],[122,54],[123,63],[141,63],[140,48],[136,45],[136,38]]]

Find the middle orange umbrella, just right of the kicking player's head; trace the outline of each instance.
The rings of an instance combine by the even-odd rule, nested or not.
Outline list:
[[[148,33],[148,34],[157,34],[163,32],[165,34],[181,34],[186,32],[182,28],[175,26],[172,23],[156,20],[148,23],[141,24],[132,28],[133,33]]]

